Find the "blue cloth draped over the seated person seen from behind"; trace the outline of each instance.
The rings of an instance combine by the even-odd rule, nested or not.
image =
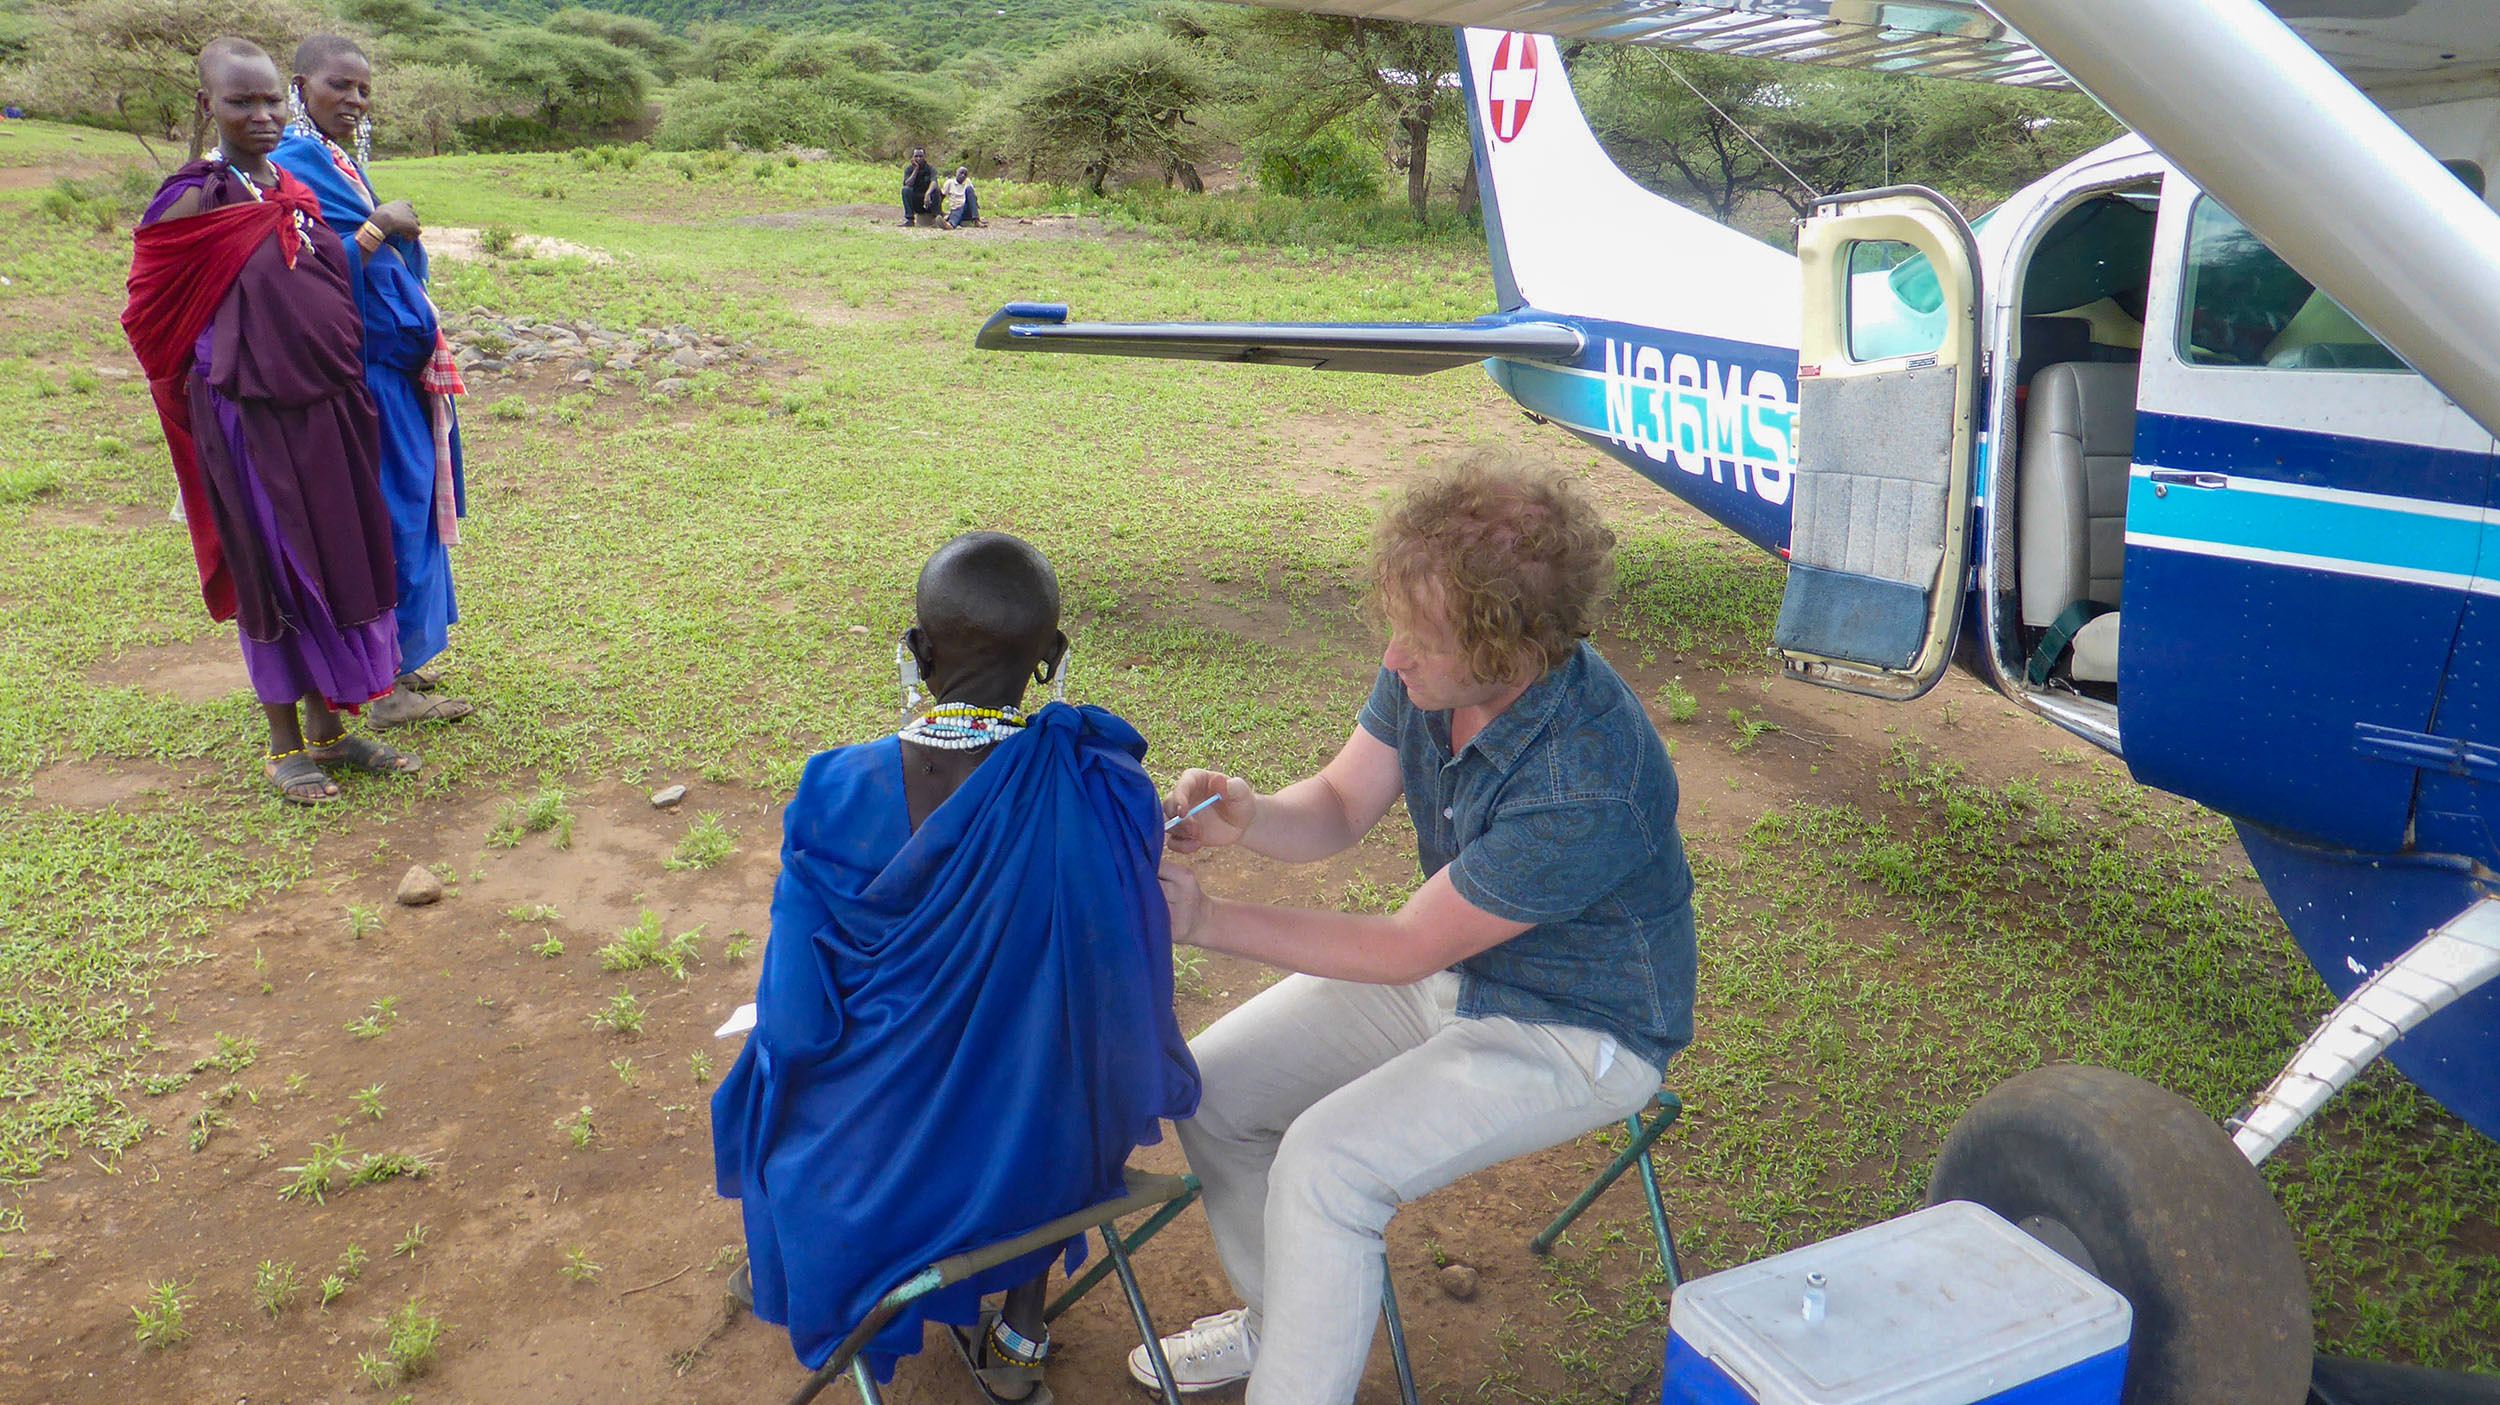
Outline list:
[[[808,762],[755,1032],[712,1095],[755,1315],[800,1362],[910,1272],[1120,1195],[1128,1152],[1198,1110],[1142,755],[1100,708],[1042,708],[918,832],[900,740]],[[878,1378],[922,1320],[975,1322],[1055,1252],[918,1300],[870,1348]]]

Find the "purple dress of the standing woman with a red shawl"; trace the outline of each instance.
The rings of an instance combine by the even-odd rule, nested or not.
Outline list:
[[[140,222],[185,190],[252,200],[222,162],[178,170]],[[400,672],[380,425],[365,390],[348,258],[320,220],[295,268],[262,242],[200,332],[190,428],[235,575],[242,668],[262,702],[320,695],[355,710]]]

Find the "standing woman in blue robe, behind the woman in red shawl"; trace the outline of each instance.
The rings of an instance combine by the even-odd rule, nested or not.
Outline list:
[[[425,665],[460,620],[450,550],[460,540],[462,392],[442,320],[425,295],[425,245],[408,200],[382,202],[365,172],[372,122],[372,62],[355,40],[312,35],[295,45],[295,120],[270,152],[320,198],[320,215],[348,252],[348,282],[365,320],[365,390],[382,418],[382,500],[400,580],[400,685],[372,705],[375,730],[452,722],[475,708],[440,692]]]

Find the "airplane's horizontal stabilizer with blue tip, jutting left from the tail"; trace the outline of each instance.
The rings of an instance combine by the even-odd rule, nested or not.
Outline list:
[[[980,350],[1238,360],[1305,370],[1428,375],[1488,358],[1568,362],[1578,328],[1545,320],[1475,322],[1070,322],[1062,302],[1008,302],[980,325]]]

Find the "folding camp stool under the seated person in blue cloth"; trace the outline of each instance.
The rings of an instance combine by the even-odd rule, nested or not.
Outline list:
[[[1128,1255],[1140,1245],[1145,1245],[1145,1240],[1155,1238],[1165,1225],[1178,1220],[1180,1212],[1190,1208],[1190,1200],[1198,1200],[1198,1178],[1152,1175],[1138,1168],[1128,1168],[1122,1170],[1122,1175],[1128,1178],[1128,1192],[1120,1195],[1118,1200],[1105,1200],[1088,1210],[1078,1210],[1075,1215],[1060,1215],[1058,1220],[1050,1220],[1048,1225],[1028,1235],[1018,1235],[1002,1245],[988,1245],[980,1250],[960,1252],[955,1258],[942,1258],[898,1282],[885,1298],[878,1300],[878,1308],[868,1312],[868,1320],[852,1328],[850,1335],[842,1338],[842,1345],[832,1348],[832,1355],[825,1358],[825,1365],[820,1365],[815,1375],[810,1375],[808,1382],[798,1388],[798,1395],[790,1398],[790,1405],[808,1405],[845,1370],[850,1372],[850,1380],[860,1388],[862,1405],[882,1405],[885,1395],[878,1392],[878,1378],[875,1372],[868,1370],[865,1350],[868,1342],[872,1342],[878,1332],[885,1330],[885,1322],[892,1322],[895,1315],[902,1312],[902,1308],[918,1302],[920,1298],[928,1298],[930,1292],[938,1292],[940,1288],[962,1282],[975,1272],[992,1270],[1032,1250],[1072,1240],[1085,1230],[1102,1232],[1102,1260],[1080,1272],[1075,1282],[1070,1282],[1065,1290],[1060,1290],[1060,1295],[1050,1300],[1050,1308],[1042,1310],[1042,1320],[1055,1322],[1060,1312],[1068,1312],[1070,1308],[1078,1305],[1080,1298],[1092,1292],[1092,1288],[1102,1282],[1102,1275],[1118,1272],[1120,1288],[1128,1290],[1128,1310],[1138,1318],[1138,1335],[1145,1340],[1145,1358],[1155,1362],[1155,1380],[1162,1382],[1162,1402],[1180,1405],[1180,1388],[1172,1382],[1172,1365],[1162,1360],[1162,1338],[1155,1332],[1155,1320],[1148,1318],[1145,1312],[1145,1292],[1138,1288],[1138,1272],[1130,1268]],[[1155,1212],[1130,1235],[1120,1235],[1120,1225],[1115,1220],[1135,1215],[1140,1210],[1155,1210]]]

